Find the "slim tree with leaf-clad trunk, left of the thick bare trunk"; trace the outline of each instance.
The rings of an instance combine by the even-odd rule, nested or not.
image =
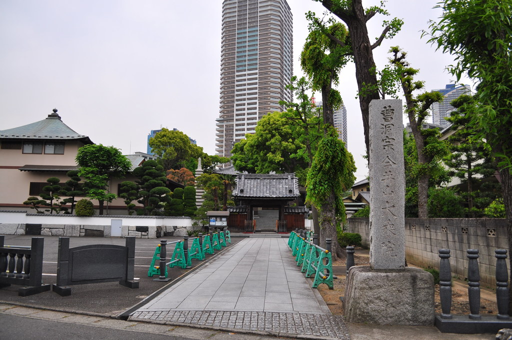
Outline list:
[[[345,207],[340,203],[341,196],[355,180],[352,155],[346,151],[345,144],[337,139],[333,127],[334,108],[342,104],[342,98],[338,91],[332,89],[332,84],[337,83],[337,73],[347,61],[344,58],[348,55],[346,40],[347,30],[342,24],[329,28],[321,26],[310,31],[301,53],[301,66],[310,77],[313,90],[322,92],[324,136],[318,143],[306,182],[307,201],[318,210],[322,247],[326,246],[326,238],[337,240],[336,217],[343,217],[345,213]],[[334,258],[346,257],[337,242],[333,243],[332,250]]]

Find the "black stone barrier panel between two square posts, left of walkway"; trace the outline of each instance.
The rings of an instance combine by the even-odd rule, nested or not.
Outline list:
[[[59,237],[57,284],[53,291],[71,295],[72,285],[119,281],[120,285],[139,288],[134,281],[135,237],[127,237],[125,246],[93,244],[69,247],[68,237]]]

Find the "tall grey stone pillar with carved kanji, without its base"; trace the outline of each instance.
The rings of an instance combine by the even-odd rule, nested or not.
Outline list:
[[[403,269],[406,253],[401,100],[370,103],[370,266]]]

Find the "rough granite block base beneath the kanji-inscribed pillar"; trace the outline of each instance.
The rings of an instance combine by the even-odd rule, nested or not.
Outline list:
[[[419,268],[350,268],[344,299],[345,320],[378,325],[434,325],[434,278]]]

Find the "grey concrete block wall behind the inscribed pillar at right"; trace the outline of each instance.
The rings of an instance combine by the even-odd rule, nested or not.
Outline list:
[[[505,219],[413,219],[405,224],[406,259],[410,264],[439,269],[440,248],[451,250],[452,275],[467,278],[467,249],[478,249],[481,284],[496,287],[496,249],[507,249]],[[361,235],[362,244],[370,246],[368,218],[350,218],[345,231]],[[506,261],[509,268],[509,262]]]

